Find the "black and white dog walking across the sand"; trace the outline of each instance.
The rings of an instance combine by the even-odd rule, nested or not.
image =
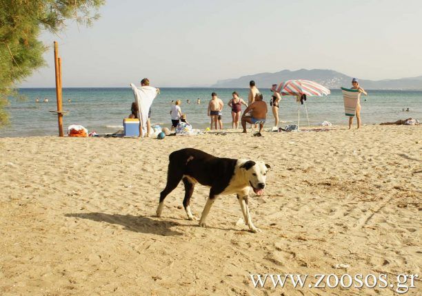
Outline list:
[[[201,150],[185,148],[172,152],[169,156],[167,184],[160,193],[160,203],[157,208],[157,216],[161,216],[165,197],[177,187],[180,180],[185,184],[185,198],[183,207],[188,214],[188,219],[194,217],[190,211],[190,198],[194,186],[199,184],[211,187],[210,195],[203,208],[199,226],[205,227],[205,220],[210,212],[214,200],[219,195],[237,194],[241,205],[243,218],[250,231],[257,232],[259,229],[252,224],[248,207],[248,194],[252,187],[257,195],[263,194],[265,179],[270,165],[252,160],[218,158]]]

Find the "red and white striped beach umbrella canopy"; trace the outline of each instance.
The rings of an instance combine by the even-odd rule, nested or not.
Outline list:
[[[280,83],[277,89],[282,96],[297,96],[305,94],[306,96],[328,96],[330,89],[323,87],[314,81],[303,79],[288,80]]]

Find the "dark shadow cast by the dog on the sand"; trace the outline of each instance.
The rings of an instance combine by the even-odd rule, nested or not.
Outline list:
[[[107,213],[68,213],[66,217],[88,219],[96,222],[106,222],[108,224],[119,224],[124,226],[124,230],[137,233],[151,233],[156,235],[183,235],[179,231],[170,229],[173,226],[185,226],[178,222],[154,220],[145,216],[120,215]]]

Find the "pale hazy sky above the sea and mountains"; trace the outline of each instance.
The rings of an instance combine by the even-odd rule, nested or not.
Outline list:
[[[368,79],[422,75],[421,0],[109,0],[90,28],[59,41],[63,87],[210,85],[280,70],[331,69]],[[53,87],[44,67],[21,87]]]

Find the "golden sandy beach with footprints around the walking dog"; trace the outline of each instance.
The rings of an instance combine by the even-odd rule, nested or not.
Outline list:
[[[183,186],[154,217],[168,155],[195,147],[272,167],[252,220],[235,196],[208,228]],[[145,138],[0,138],[1,295],[398,295],[396,288],[254,288],[250,274],[419,274],[422,127]],[[200,215],[208,188],[197,185]],[[343,268],[339,264],[344,264]],[[315,283],[315,279],[310,279]]]

